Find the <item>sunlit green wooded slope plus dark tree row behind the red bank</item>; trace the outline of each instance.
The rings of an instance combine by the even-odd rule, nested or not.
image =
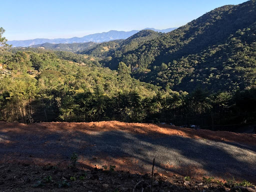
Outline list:
[[[59,57],[69,54],[77,55],[30,50],[2,54],[0,120],[172,122],[212,129],[255,121],[255,88],[233,93],[196,89],[190,94],[162,90],[132,78],[124,62],[115,71],[90,60]]]

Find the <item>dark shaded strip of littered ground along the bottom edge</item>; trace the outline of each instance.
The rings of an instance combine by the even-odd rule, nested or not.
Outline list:
[[[150,174],[132,174],[96,168],[59,168],[50,164],[38,166],[26,163],[0,164],[0,190],[3,191],[151,191]],[[72,180],[75,177],[75,180]],[[154,174],[153,191],[223,191],[219,183],[205,188],[191,179],[164,177]],[[187,182],[188,183],[188,182]]]

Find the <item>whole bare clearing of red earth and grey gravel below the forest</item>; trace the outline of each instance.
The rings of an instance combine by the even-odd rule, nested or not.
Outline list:
[[[256,183],[256,134],[194,130],[166,124],[0,122],[0,162],[60,163],[73,152],[90,167],[131,173],[235,177]]]

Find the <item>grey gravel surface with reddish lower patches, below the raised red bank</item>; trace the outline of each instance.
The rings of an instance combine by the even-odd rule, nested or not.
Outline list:
[[[165,175],[224,179],[234,176],[256,181],[256,148],[253,145],[120,129],[91,129],[88,133],[63,127],[53,130],[36,126],[34,129],[0,126],[2,162],[68,161],[74,151],[79,155],[79,161],[88,166],[112,164],[116,169],[142,173],[150,172],[155,158],[155,171]]]

